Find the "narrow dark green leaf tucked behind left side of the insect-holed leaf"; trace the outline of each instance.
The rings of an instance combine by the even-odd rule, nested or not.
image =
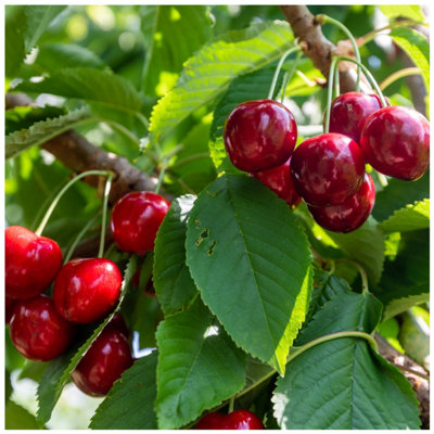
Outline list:
[[[187,218],[195,196],[171,202],[155,239],[153,282],[165,315],[186,308],[197,289],[186,264]]]

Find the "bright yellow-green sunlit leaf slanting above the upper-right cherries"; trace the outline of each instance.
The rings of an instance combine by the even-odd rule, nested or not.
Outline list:
[[[161,141],[197,108],[221,95],[238,75],[259,69],[294,46],[288,23],[254,24],[205,44],[186,62],[176,87],[154,107],[150,130]],[[237,61],[234,61],[237,60]]]

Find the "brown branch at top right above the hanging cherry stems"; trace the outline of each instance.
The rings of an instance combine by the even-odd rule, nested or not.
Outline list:
[[[301,4],[280,5],[280,10],[286,17],[294,33],[298,38],[303,52],[309,58],[314,66],[321,71],[324,77],[329,77],[330,62],[332,53],[340,55],[350,55],[350,43],[341,42],[336,48],[322,34],[321,26],[315,21],[315,16],[309,10]],[[340,62],[340,84],[341,91],[348,92],[356,87],[356,66],[348,62]],[[370,86],[366,78],[361,77],[361,91],[369,92]]]

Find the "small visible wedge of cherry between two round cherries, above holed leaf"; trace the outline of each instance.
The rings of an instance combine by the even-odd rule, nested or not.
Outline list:
[[[294,188],[290,168],[291,157],[281,166],[268,170],[253,171],[252,175],[291,207],[296,208],[301,204],[302,197]]]

